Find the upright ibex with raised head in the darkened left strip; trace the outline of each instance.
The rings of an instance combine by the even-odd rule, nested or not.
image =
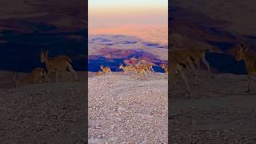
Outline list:
[[[74,74],[74,78],[78,80],[78,76],[73,69],[73,66],[70,64],[71,60],[66,55],[60,55],[58,57],[49,58],[49,50],[41,52],[41,62],[46,63],[46,69],[48,74],[56,74],[56,82],[58,82],[58,72],[68,72],[70,71]]]

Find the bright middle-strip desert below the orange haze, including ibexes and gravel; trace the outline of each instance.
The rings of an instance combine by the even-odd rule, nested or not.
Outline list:
[[[88,52],[88,142],[167,143],[167,46],[101,34]]]

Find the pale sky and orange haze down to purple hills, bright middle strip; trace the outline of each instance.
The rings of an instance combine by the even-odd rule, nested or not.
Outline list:
[[[88,19],[89,34],[133,35],[165,43],[168,0],[89,0]]]

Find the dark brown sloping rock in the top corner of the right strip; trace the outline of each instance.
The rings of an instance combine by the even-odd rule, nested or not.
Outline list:
[[[170,6],[174,6],[174,8],[170,10],[177,10],[176,6],[178,6],[180,9],[190,10],[190,12],[212,19],[214,21],[213,25],[216,22],[221,22],[222,25],[218,26],[222,26],[233,34],[256,35],[256,21],[252,19],[256,10],[255,3],[255,1],[242,2],[239,0],[217,0],[212,2],[203,0],[192,0],[189,2],[186,0],[172,0],[172,5]],[[200,19],[193,18],[195,21]],[[200,22],[203,22],[202,17]],[[198,25],[200,24],[198,23]]]

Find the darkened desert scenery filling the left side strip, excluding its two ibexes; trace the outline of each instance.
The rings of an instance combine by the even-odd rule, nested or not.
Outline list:
[[[86,143],[87,2],[0,2],[0,143]],[[78,80],[14,88],[41,62],[65,54]],[[66,58],[68,59],[68,58]],[[39,70],[39,69],[37,69]],[[48,70],[49,72],[49,70]],[[33,82],[36,83],[36,82]]]

